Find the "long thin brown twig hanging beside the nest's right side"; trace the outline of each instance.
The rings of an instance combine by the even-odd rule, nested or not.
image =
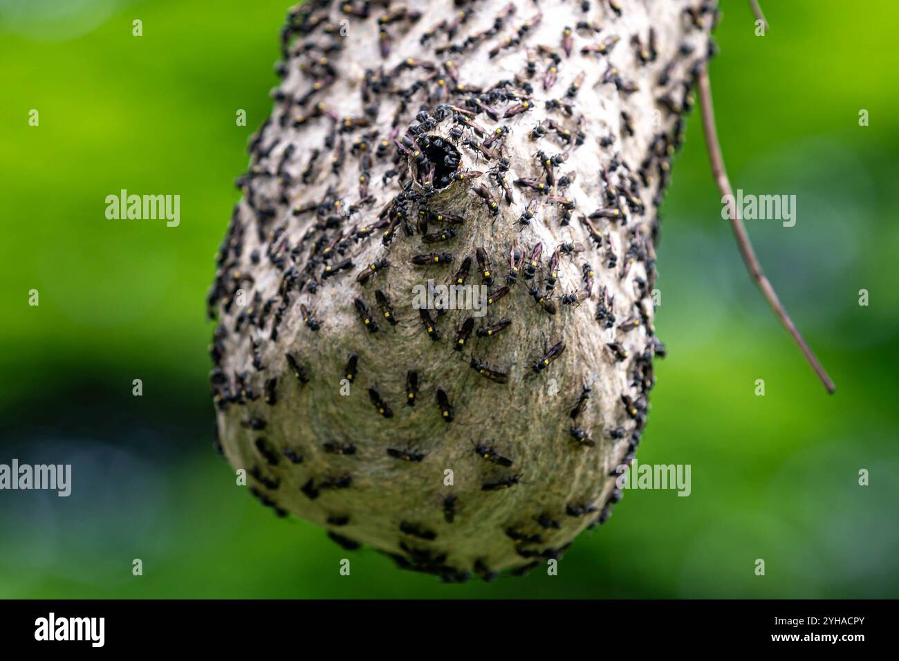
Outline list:
[[[712,166],[712,174],[715,176],[718,191],[722,195],[733,196],[734,190],[731,188],[730,180],[727,178],[725,160],[724,156],[721,155],[721,145],[718,142],[717,129],[715,127],[715,109],[712,106],[712,90],[711,85],[708,84],[708,68],[706,65],[703,65],[699,72],[699,103],[702,107],[702,127],[706,134],[708,160]],[[755,256],[755,251],[752,250],[752,243],[749,240],[749,235],[746,234],[743,220],[740,219],[740,211],[735,204],[731,206],[734,209],[734,213],[730,214],[731,228],[734,229],[734,236],[736,237],[737,245],[740,246],[740,252],[743,254],[743,262],[746,263],[746,268],[749,269],[752,279],[759,285],[761,293],[768,299],[780,322],[787,327],[789,334],[793,335],[793,339],[796,340],[796,344],[799,345],[802,353],[806,355],[806,360],[812,365],[812,369],[824,384],[824,388],[832,394],[836,390],[836,386],[827,375],[827,371],[824,370],[822,364],[818,362],[814,352],[806,344],[806,340],[799,333],[796,325],[793,324],[793,320],[787,314],[787,310],[780,304],[777,293],[774,291],[768,278],[765,277],[764,272],[761,271],[761,264],[759,264],[759,260]]]

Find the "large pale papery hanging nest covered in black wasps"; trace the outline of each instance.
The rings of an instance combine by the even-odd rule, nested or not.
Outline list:
[[[608,518],[663,353],[656,209],[716,11],[290,10],[209,294],[220,444],[263,504],[446,580],[558,558]]]

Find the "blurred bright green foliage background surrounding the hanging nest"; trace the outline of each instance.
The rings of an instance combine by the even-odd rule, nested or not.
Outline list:
[[[711,66],[734,187],[797,195],[795,227],[749,232],[837,394],[749,281],[694,113],[658,251],[669,356],[637,453],[691,464],[692,495],[626,492],[558,576],[460,586],[370,549],[339,576],[345,551],[273,517],[212,450],[204,297],[285,0],[0,0],[0,463],[75,466],[69,498],[0,492],[0,596],[897,596],[899,4],[863,7],[769,2],[762,38],[727,1]],[[121,188],[180,194],[181,226],[105,219]]]

